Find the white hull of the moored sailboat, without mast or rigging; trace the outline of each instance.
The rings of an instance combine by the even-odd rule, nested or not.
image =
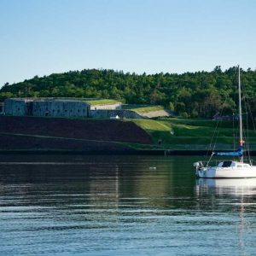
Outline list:
[[[256,177],[256,166],[238,167],[203,167],[196,170],[197,177]]]

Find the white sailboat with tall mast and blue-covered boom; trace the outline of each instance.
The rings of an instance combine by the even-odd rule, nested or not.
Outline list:
[[[210,160],[213,155],[237,156],[239,160],[221,160],[217,166],[209,166],[210,160],[204,166],[202,161],[194,163],[195,175],[197,177],[256,177],[256,166],[252,162],[244,162],[243,144],[245,143],[242,137],[242,118],[241,118],[241,78],[240,67],[238,66],[238,96],[239,96],[239,148],[232,152],[212,152]]]

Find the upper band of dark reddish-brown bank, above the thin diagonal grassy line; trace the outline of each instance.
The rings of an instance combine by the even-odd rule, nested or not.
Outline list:
[[[151,143],[139,126],[122,120],[0,116],[0,132],[125,143]]]

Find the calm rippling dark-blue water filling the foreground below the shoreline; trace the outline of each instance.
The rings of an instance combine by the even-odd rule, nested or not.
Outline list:
[[[2,155],[0,253],[256,255],[256,180],[196,180],[195,160]]]

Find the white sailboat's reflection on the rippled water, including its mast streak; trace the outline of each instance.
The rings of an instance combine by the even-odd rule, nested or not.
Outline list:
[[[240,248],[242,255],[247,255],[247,245],[255,239],[256,178],[199,178],[195,196],[201,209],[216,211],[216,214],[222,209],[222,217],[229,225],[236,226],[234,246]]]

